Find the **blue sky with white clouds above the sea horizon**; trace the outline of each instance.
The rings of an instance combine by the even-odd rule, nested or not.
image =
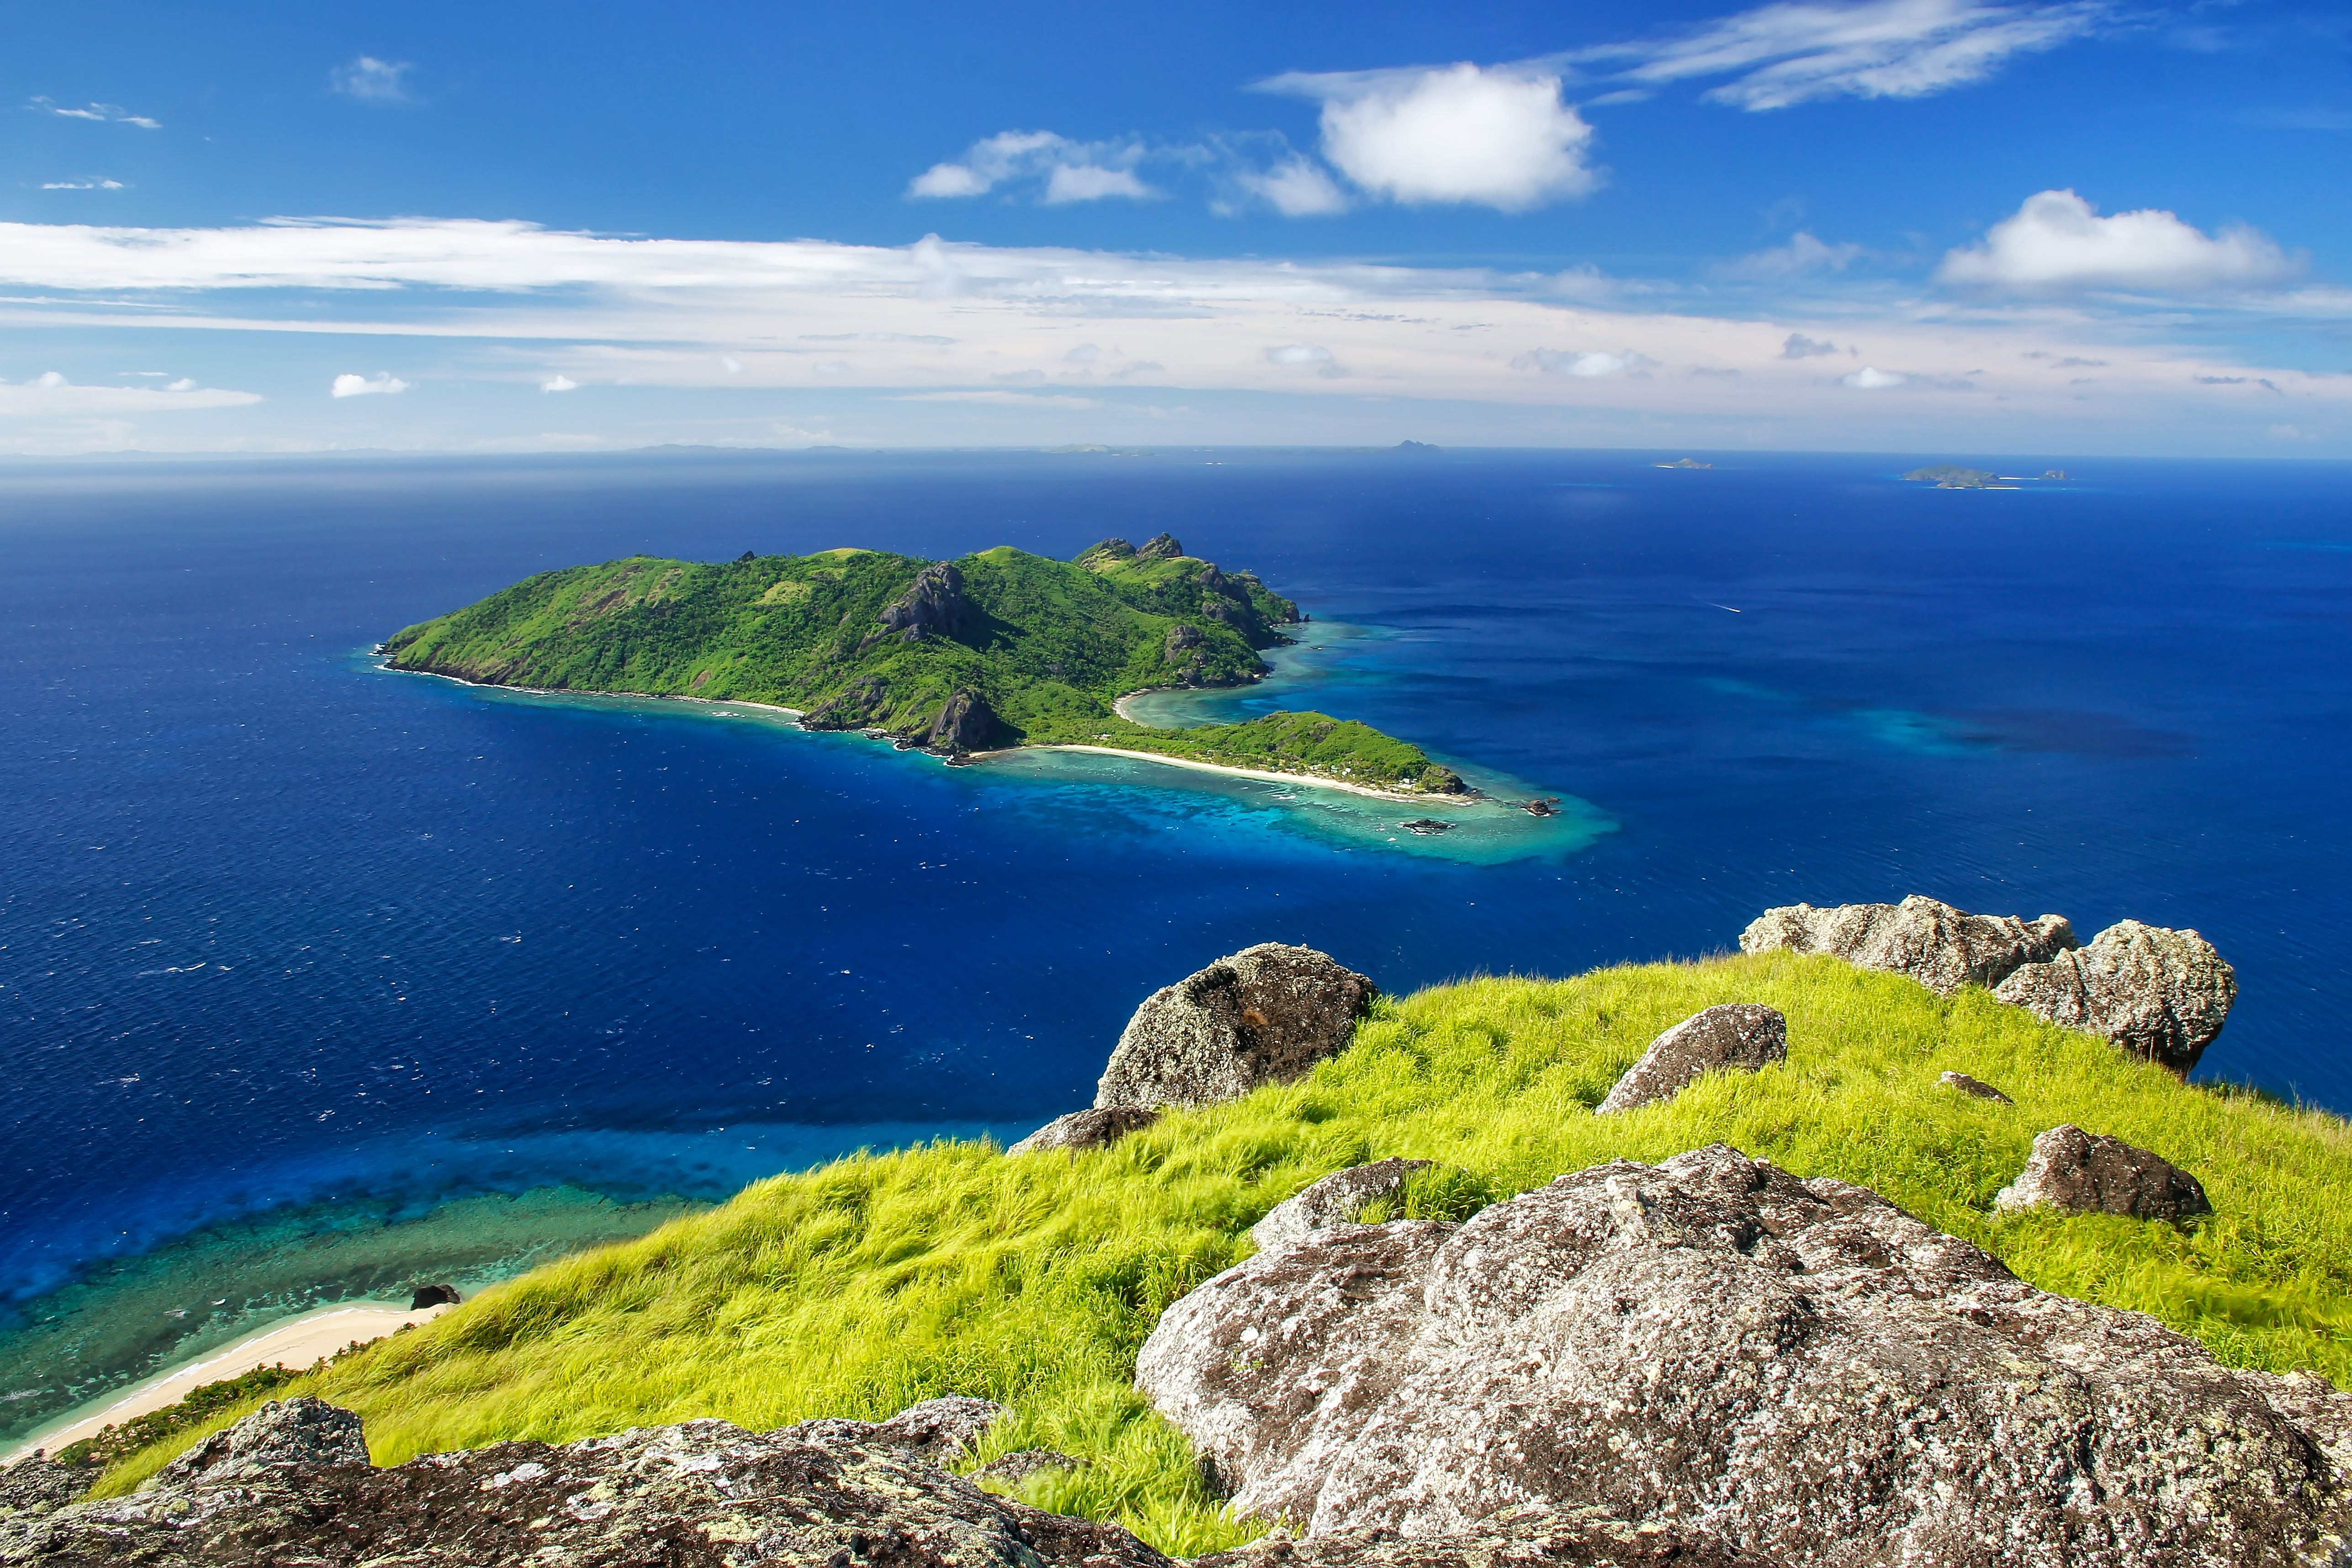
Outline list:
[[[0,451],[2352,456],[2352,7],[0,0]]]

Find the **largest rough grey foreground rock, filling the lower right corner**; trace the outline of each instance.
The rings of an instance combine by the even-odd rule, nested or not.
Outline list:
[[[2288,1568],[2352,1530],[2352,1396],[1724,1145],[1261,1253],[1136,1380],[1310,1542],[1543,1505],[1818,1568]]]

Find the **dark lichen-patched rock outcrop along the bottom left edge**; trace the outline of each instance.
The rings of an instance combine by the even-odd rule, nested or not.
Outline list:
[[[238,1432],[263,1415],[223,1434],[230,1448],[254,1448]],[[348,1410],[336,1415],[358,1429]],[[167,1472],[132,1497],[0,1519],[0,1563],[1167,1568],[1169,1559],[1120,1526],[995,1497],[903,1446],[694,1420],[390,1469],[320,1460],[238,1479]]]

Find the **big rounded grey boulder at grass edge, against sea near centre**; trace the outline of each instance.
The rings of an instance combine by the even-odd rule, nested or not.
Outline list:
[[[1244,947],[1136,1009],[1094,1103],[1214,1105],[1287,1084],[1338,1056],[1378,994],[1312,947]]]

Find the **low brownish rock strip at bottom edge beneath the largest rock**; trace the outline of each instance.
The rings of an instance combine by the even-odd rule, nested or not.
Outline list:
[[[1463,1535],[1331,1530],[1294,1540],[1275,1530],[1192,1568],[1776,1568],[1672,1523],[1628,1523],[1597,1509],[1505,1509]]]

